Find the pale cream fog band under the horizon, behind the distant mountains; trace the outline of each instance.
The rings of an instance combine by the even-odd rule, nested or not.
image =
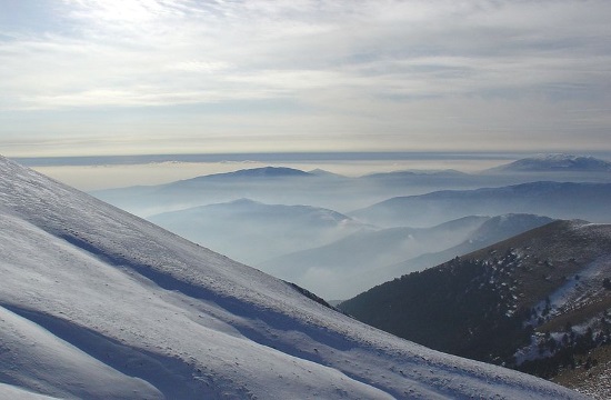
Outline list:
[[[249,157],[252,157],[252,159],[249,159]],[[74,161],[73,158],[19,159],[18,161],[77,189],[92,191],[131,186],[163,184],[213,173],[268,166],[290,167],[303,171],[321,169],[351,178],[411,169],[455,169],[464,172],[478,172],[495,167],[511,156],[473,156],[468,158],[460,154],[440,154],[431,157],[432,159],[422,159],[415,156],[403,159],[372,157],[372,159],[363,160],[355,156],[354,159],[344,157],[344,159],[337,160],[327,158],[321,160],[293,160],[289,157],[272,158],[270,154],[244,154],[239,158],[224,157],[226,159],[220,158],[218,160],[212,157],[207,157],[203,160],[193,158],[194,161],[177,161],[181,157],[153,158],[152,156],[134,158],[130,162],[126,162],[124,158],[119,157],[87,158],[86,160],[79,158],[78,161]],[[159,161],[154,161],[157,158],[159,158]],[[212,160],[206,160],[210,158]]]

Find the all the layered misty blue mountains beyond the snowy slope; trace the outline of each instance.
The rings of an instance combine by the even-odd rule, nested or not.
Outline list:
[[[549,156],[540,162],[581,159]],[[537,160],[517,162],[532,164]],[[597,164],[604,162],[593,160]],[[481,218],[483,222],[483,216],[512,216],[510,219],[517,222],[519,214],[609,221],[611,183],[534,181],[479,187],[514,177],[528,180],[538,174],[410,170],[348,178],[322,170],[266,167],[96,196],[128,211],[140,210],[141,216],[174,233],[297,282],[325,299],[345,299],[372,284],[433,267],[538,223],[523,220],[522,230],[512,230],[507,229],[510,222],[505,220],[503,227],[494,228],[495,233],[494,221],[490,221],[489,231],[470,238],[457,230],[444,231],[449,221]],[[547,177],[560,179],[564,174]],[[473,184],[477,189],[387,197],[427,187]],[[373,199],[383,201],[350,211],[350,204]],[[321,204],[334,204],[348,212]],[[170,211],[158,213],[161,210]],[[429,234],[428,230],[437,232]]]

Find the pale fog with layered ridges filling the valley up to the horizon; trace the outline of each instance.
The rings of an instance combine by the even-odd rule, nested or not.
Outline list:
[[[611,168],[604,170],[604,162],[602,170],[485,170],[502,163],[242,160],[37,168],[67,182],[114,186],[91,192],[211,250],[341,300],[477,250],[478,243],[492,244],[481,239],[492,217],[525,221],[518,229],[488,229],[485,237],[494,240],[549,221],[515,213],[611,222]],[[455,168],[461,166],[479,168]],[[123,187],[134,181],[138,186]]]

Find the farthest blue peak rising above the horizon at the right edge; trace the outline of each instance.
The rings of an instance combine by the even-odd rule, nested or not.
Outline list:
[[[484,172],[611,172],[611,162],[594,157],[540,154]]]

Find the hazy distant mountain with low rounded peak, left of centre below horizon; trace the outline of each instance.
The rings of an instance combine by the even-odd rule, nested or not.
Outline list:
[[[149,187],[98,190],[91,194],[140,217],[242,198],[268,204],[312,204],[340,211],[383,199],[379,188],[352,178],[280,167],[214,173]]]

